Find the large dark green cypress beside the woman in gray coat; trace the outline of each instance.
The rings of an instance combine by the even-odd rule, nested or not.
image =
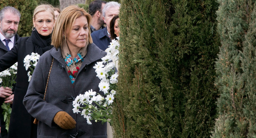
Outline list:
[[[219,37],[214,0],[122,0],[116,137],[210,137]]]

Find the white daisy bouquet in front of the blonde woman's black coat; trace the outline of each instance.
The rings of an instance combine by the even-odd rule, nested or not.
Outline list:
[[[32,52],[31,55],[26,55],[26,57],[24,58],[23,62],[24,62],[24,67],[26,71],[30,69],[30,71],[28,71],[28,81],[30,81],[32,77],[32,74],[34,72],[34,69],[36,67],[39,57],[40,55],[38,53]]]

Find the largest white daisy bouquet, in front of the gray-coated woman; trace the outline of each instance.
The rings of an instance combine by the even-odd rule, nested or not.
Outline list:
[[[118,82],[116,68],[118,48],[118,41],[112,40],[108,49],[106,49],[107,55],[93,67],[97,73],[96,76],[101,80],[98,86],[100,91],[104,92],[104,95],[100,95],[91,89],[86,91],[84,95],[78,95],[73,101],[73,112],[80,112],[87,119],[88,124],[92,124],[91,120],[94,120],[95,122],[102,121],[102,123],[109,122],[111,125],[112,103],[114,102]]]

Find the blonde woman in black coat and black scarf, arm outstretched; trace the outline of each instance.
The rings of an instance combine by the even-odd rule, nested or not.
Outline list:
[[[28,89],[28,71],[23,60],[32,52],[42,55],[50,50],[51,34],[54,27],[54,10],[51,5],[39,5],[34,10],[33,28],[30,37],[18,39],[14,47],[0,57],[0,72],[18,62],[17,83],[14,91],[12,113],[8,131],[9,138],[37,138],[37,124],[22,104]]]

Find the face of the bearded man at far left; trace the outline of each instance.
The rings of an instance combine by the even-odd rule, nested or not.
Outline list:
[[[20,18],[17,15],[14,15],[10,12],[5,12],[4,17],[0,23],[0,32],[6,38],[13,37],[18,30],[18,25],[20,22]]]

